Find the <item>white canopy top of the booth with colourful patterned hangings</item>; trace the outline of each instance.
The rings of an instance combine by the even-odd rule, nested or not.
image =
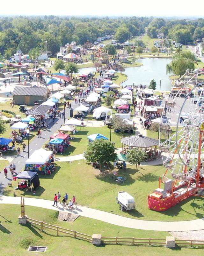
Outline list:
[[[45,164],[52,155],[51,150],[40,148],[35,150],[33,154],[25,161],[25,164]]]

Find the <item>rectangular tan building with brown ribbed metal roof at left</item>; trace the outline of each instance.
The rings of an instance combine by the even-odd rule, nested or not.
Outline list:
[[[46,87],[16,86],[12,95],[15,104],[35,105],[34,102],[42,103],[49,98],[49,89]]]

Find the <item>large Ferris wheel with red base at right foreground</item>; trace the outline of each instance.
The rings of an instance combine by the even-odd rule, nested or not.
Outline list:
[[[204,196],[204,85],[197,81],[199,74],[204,71],[186,70],[165,100],[162,117],[168,122],[160,124],[159,149],[166,171],[159,188],[148,195],[149,209],[166,211],[190,196]]]

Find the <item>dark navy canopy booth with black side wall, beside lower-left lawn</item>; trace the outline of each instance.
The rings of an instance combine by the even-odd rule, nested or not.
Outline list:
[[[31,191],[35,191],[40,186],[40,180],[36,172],[20,172],[13,179],[22,179],[21,182],[18,182],[18,189],[21,190],[29,188],[30,185]],[[30,184],[27,180],[30,181]]]

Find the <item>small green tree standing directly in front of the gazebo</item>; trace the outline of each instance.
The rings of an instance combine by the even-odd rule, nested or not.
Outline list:
[[[126,161],[131,165],[136,164],[136,168],[137,168],[137,164],[144,161],[146,157],[147,157],[147,154],[141,149],[131,148],[127,152]]]

